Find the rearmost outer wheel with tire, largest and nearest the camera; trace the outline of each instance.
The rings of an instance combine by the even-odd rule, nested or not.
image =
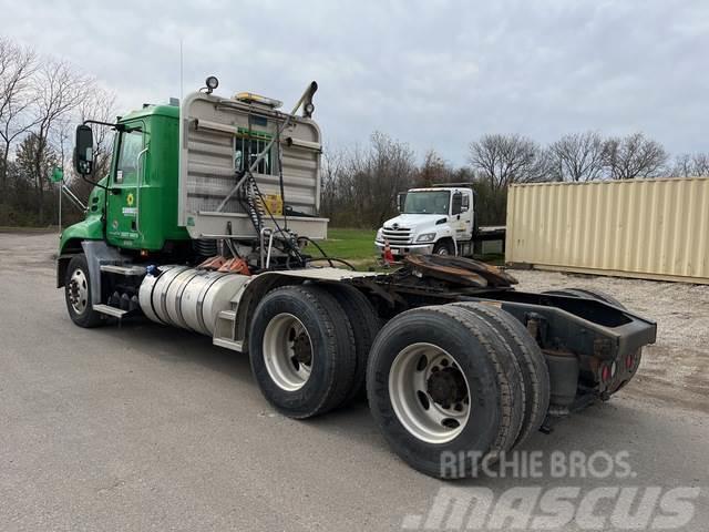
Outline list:
[[[521,377],[511,359],[487,324],[464,309],[408,310],[372,346],[372,416],[414,469],[436,478],[472,477],[483,457],[511,449],[520,432]]]

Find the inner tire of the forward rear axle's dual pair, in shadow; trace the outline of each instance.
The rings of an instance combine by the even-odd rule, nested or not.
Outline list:
[[[354,351],[357,354],[354,379],[351,390],[342,402],[342,405],[348,405],[359,398],[366,398],[367,361],[377,332],[381,329],[381,320],[369,299],[353,286],[343,284],[326,286],[345,310],[354,334]]]

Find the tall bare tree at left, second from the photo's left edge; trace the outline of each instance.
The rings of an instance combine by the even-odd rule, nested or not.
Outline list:
[[[55,126],[61,119],[75,111],[92,90],[93,82],[76,74],[71,66],[56,60],[47,61],[38,71],[35,79],[37,104],[35,126],[37,137],[34,150],[34,165],[32,178],[37,195],[38,216],[41,224],[44,218],[44,186],[48,175],[42,172],[42,161],[50,147],[50,139],[55,133]]]

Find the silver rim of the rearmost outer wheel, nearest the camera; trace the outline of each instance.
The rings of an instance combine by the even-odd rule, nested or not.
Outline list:
[[[412,344],[397,355],[389,397],[401,424],[428,443],[452,441],[470,418],[465,375],[453,356],[432,344]]]

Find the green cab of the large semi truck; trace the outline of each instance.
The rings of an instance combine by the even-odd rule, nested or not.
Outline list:
[[[188,242],[177,225],[179,108],[144,105],[119,117],[109,174],[93,188],[83,222],[64,229],[60,254],[84,241],[135,253]],[[83,126],[85,129],[89,125]]]

